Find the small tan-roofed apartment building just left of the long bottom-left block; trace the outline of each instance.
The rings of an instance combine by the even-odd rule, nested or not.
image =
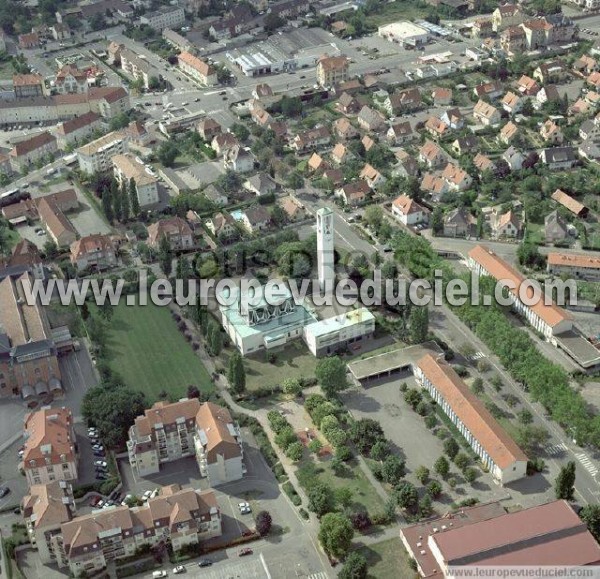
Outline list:
[[[64,480],[33,485],[21,502],[27,535],[44,565],[56,563],[53,541],[75,516],[73,487]]]

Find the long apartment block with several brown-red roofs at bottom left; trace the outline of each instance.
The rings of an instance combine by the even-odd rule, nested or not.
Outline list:
[[[63,523],[52,547],[58,567],[82,577],[143,547],[169,542],[177,552],[221,534],[221,512],[212,490],[171,485],[142,507],[110,507]]]

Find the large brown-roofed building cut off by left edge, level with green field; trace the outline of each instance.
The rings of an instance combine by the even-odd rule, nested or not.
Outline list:
[[[0,396],[61,395],[57,349],[46,311],[38,302],[29,305],[24,285],[29,273],[0,281]]]

